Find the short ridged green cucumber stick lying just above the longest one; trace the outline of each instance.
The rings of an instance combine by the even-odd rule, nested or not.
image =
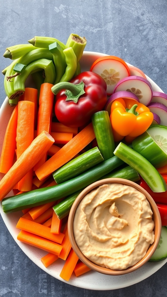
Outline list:
[[[103,160],[104,159],[96,146],[54,171],[53,178],[57,184],[61,184],[62,182],[77,176]]]

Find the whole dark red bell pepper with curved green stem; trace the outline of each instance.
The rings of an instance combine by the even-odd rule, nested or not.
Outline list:
[[[70,82],[52,87],[56,95],[55,115],[68,127],[81,127],[91,120],[95,112],[103,110],[107,102],[107,84],[97,73],[81,72]]]

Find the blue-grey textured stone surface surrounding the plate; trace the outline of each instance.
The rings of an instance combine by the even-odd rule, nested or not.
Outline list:
[[[31,4],[30,4],[31,3]],[[167,93],[166,0],[6,0],[0,7],[0,68],[6,47],[37,36],[66,42],[85,36],[86,49],[119,56],[142,69]],[[6,97],[0,75],[0,105]],[[21,251],[0,218],[0,297],[166,297],[167,264],[148,279],[124,289],[93,291],[70,286],[38,268]]]

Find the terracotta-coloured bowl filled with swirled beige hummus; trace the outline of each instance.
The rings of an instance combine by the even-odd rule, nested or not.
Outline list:
[[[140,268],[153,255],[161,219],[154,200],[138,184],[106,178],[78,195],[68,231],[73,250],[89,268],[122,275]]]

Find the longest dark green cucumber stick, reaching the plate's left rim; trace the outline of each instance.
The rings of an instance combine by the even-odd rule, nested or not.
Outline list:
[[[4,198],[2,200],[3,211],[4,213],[19,211],[25,208],[56,201],[64,196],[71,195],[74,192],[89,186],[123,163],[124,162],[121,159],[114,156],[62,184]]]

